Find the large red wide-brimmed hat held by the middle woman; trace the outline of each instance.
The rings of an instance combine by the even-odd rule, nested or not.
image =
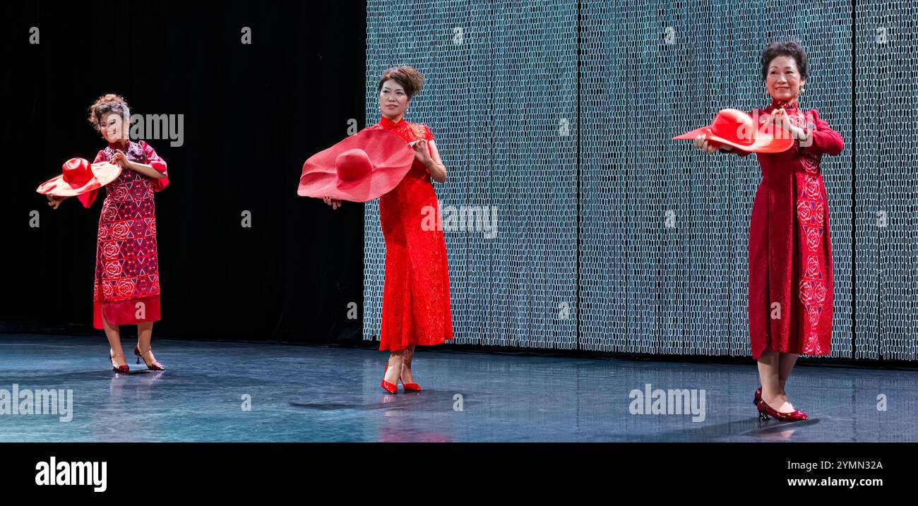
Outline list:
[[[414,149],[386,130],[361,130],[303,164],[297,194],[371,201],[395,188],[411,169]]]

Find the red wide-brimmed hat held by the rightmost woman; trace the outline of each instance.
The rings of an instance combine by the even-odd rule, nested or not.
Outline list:
[[[778,131],[781,135],[775,136]],[[706,140],[728,144],[733,148],[754,153],[780,153],[794,145],[794,139],[780,126],[759,128],[751,115],[737,109],[722,109],[711,126],[702,126],[673,139],[694,139],[703,135]]]

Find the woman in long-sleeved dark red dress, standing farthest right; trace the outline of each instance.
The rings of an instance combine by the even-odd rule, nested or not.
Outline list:
[[[762,53],[772,103],[751,115],[794,139],[787,151],[757,153],[762,181],[749,226],[749,340],[762,385],[754,401],[762,419],[806,420],[784,390],[801,353],[827,355],[832,341],[833,272],[829,206],[820,161],[845,142],[819,111],[798,108],[808,77],[806,52],[775,42]],[[749,153],[696,139],[700,148]]]

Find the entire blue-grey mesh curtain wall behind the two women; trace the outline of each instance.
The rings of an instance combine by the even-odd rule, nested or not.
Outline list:
[[[801,107],[846,143],[823,158],[833,356],[915,359],[913,3],[370,0],[367,12],[368,124],[382,71],[419,68],[407,119],[436,137],[442,207],[497,207],[496,236],[445,231],[455,342],[747,355],[758,164],[670,137],[723,107],[769,104],[761,50],[795,39],[810,55]],[[365,228],[374,339],[386,252],[375,202]]]

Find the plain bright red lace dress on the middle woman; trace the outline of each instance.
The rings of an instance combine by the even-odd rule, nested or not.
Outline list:
[[[394,132],[407,142],[433,140],[428,126],[404,119],[393,123],[386,116],[366,129]],[[386,238],[381,350],[440,345],[453,338],[446,242],[442,227],[429,225],[439,222],[431,220],[439,213],[431,174],[417,159],[405,179],[379,198],[379,221]]]

